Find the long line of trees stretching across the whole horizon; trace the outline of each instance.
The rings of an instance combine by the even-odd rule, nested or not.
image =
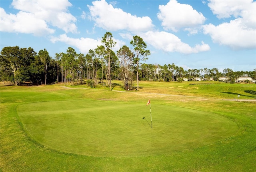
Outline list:
[[[227,76],[227,82],[234,83],[235,78],[250,76],[256,78],[254,71],[236,71],[227,68],[219,72],[218,68],[188,69],[176,66],[174,63],[145,64],[150,50],[139,36],[133,36],[130,42],[131,48],[122,46],[117,52],[112,48],[116,45],[110,32],[102,37],[102,45],[88,54],[77,53],[74,48],[68,47],[66,52],[55,53],[50,57],[46,49],[38,53],[33,48],[4,47],[0,59],[0,80],[14,82],[19,85],[22,82],[33,84],[50,84],[62,82],[88,84],[90,86],[108,86],[111,90],[111,80],[123,80],[125,90],[131,89],[133,81],[176,81],[187,80],[218,80],[220,76]],[[104,80],[106,82],[104,83]]]

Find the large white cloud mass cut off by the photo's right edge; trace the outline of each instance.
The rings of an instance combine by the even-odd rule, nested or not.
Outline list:
[[[208,6],[218,18],[235,17],[235,20],[214,26],[203,26],[204,34],[221,45],[235,50],[256,48],[256,2],[243,1],[210,1]]]

